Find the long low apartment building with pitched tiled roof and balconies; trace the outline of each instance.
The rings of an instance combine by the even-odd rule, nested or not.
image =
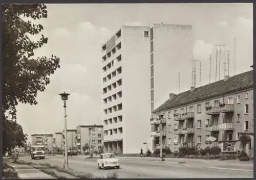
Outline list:
[[[251,142],[246,151],[252,156],[253,70],[177,95],[170,93],[153,112],[154,149],[160,147],[160,124],[162,146],[173,152],[184,144],[218,146],[222,152],[234,152],[241,150],[239,136],[247,134]]]

